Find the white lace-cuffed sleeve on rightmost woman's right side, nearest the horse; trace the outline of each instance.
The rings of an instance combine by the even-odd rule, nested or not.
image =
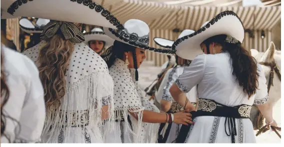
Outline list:
[[[264,104],[268,101],[267,85],[264,72],[259,64],[257,64],[258,77],[258,89],[256,89],[253,104]]]

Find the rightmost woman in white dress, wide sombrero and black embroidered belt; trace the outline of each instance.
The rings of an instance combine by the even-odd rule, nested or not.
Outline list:
[[[194,124],[182,125],[176,142],[248,143],[255,142],[249,120],[251,105],[258,108],[270,125],[276,126],[268,100],[266,80],[261,67],[241,46],[244,28],[233,11],[223,11],[196,32],[174,42],[176,54],[197,55],[172,84],[169,91],[184,105],[184,92],[198,84],[197,111],[187,103]],[[184,46],[187,46],[185,49]],[[195,54],[196,55],[196,54]]]

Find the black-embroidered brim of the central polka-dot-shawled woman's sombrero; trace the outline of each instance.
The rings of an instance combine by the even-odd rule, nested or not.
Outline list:
[[[139,48],[142,48],[142,49],[147,49],[147,50],[162,53],[162,54],[174,54],[175,53],[175,50],[172,50],[172,49],[161,49],[161,48],[154,48],[154,47],[148,46],[147,45],[148,41],[149,41],[148,38],[136,38],[136,39],[134,39],[136,41],[131,41],[131,40],[133,40],[131,37],[137,37],[137,35],[135,33],[130,34],[130,35],[124,34],[122,36],[117,32],[118,30],[116,30],[116,29],[103,27],[103,30],[104,30],[106,35],[113,38],[114,40],[132,45],[134,47],[139,47]],[[121,29],[121,30],[123,30],[123,29]],[[144,41],[145,43],[144,44],[139,43],[138,40],[145,40]]]

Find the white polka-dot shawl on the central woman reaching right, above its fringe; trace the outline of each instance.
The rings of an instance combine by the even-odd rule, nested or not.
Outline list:
[[[109,74],[113,79],[114,109],[142,108],[140,97],[135,84],[132,81],[129,69],[125,62],[116,59],[109,68]]]

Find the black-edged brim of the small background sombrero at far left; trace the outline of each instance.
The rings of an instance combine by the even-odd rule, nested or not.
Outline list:
[[[26,25],[26,23],[29,23],[33,26],[33,27],[29,27]],[[41,33],[43,30],[43,27],[35,27],[32,22],[30,20],[28,20],[27,18],[21,18],[19,19],[19,27],[22,31],[26,32],[26,33]]]

